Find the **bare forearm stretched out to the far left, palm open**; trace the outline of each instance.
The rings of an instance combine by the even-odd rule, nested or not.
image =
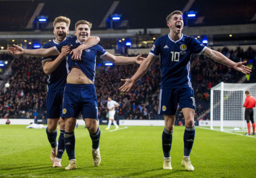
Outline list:
[[[51,48],[40,48],[40,49],[23,49],[18,45],[14,47],[8,47],[7,50],[13,55],[28,55],[35,57],[47,57],[47,56],[57,56],[58,52],[54,47]]]

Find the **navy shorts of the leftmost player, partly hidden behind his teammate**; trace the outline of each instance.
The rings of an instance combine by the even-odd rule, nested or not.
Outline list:
[[[46,118],[56,119],[61,117],[62,114],[62,99],[64,89],[47,92],[46,99]]]

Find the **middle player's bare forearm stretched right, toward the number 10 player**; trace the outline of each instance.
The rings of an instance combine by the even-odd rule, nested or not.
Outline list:
[[[124,64],[141,64],[145,58],[141,57],[141,55],[135,57],[126,57],[126,56],[114,56],[110,53],[107,53],[105,56],[102,57],[103,60],[112,62],[116,65],[124,65]]]

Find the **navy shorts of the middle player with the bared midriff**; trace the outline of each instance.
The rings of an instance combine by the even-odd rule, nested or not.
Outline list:
[[[64,89],[62,118],[77,118],[81,111],[83,119],[98,120],[98,100],[94,84],[70,84]]]

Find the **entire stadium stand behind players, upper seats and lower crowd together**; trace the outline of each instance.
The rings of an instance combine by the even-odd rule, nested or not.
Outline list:
[[[138,36],[134,36],[134,42],[136,41],[137,43],[135,48],[145,47],[144,45],[138,45],[139,43],[143,43],[143,41],[151,41],[147,42],[147,48],[151,47],[153,44],[152,36],[147,33],[147,28],[165,28],[168,31],[165,17],[169,12],[174,10],[184,10],[184,21],[188,23],[188,26],[192,26],[192,28],[194,26],[256,23],[255,0],[244,0],[243,3],[239,0],[195,0],[190,6],[187,6],[189,4],[187,0],[91,0],[84,2],[81,2],[81,0],[0,0],[0,6],[2,7],[0,11],[0,33],[6,35],[9,32],[14,34],[16,32],[18,33],[18,31],[24,31],[22,34],[26,34],[26,31],[33,30],[26,27],[31,21],[39,3],[42,3],[43,7],[37,15],[48,17],[47,27],[41,30],[48,32],[33,32],[35,34],[52,34],[53,27],[51,22],[53,22],[55,17],[60,15],[67,16],[71,19],[70,30],[74,30],[75,22],[85,19],[93,23],[93,30],[102,30],[103,32],[109,28],[107,23],[105,26],[101,25],[102,22],[105,22],[104,18],[108,18],[111,14],[120,14],[125,23],[119,26],[113,26],[115,30],[143,29],[145,33],[139,33]],[[156,3],[163,4],[163,6],[156,8]],[[111,13],[107,15],[109,11],[111,11]],[[197,12],[197,17],[195,19],[186,19],[187,11]],[[110,33],[112,35],[111,38],[101,38],[102,41],[100,45],[109,49],[115,48],[119,40],[117,40],[117,37],[113,36],[116,32],[115,30]],[[123,31],[122,33],[125,35],[127,32]],[[31,35],[32,32],[29,34]],[[213,32],[213,34],[215,34],[215,32]],[[143,35],[147,36],[143,38]],[[197,34],[195,36],[198,35],[203,34]],[[212,33],[210,35],[212,35]],[[209,38],[211,38],[210,35]],[[212,38],[214,38],[215,41],[223,41],[223,37],[226,33],[221,33],[220,35],[221,36],[213,36]],[[244,41],[256,39],[255,34],[250,33],[246,35],[246,38],[243,35],[240,37],[234,35],[235,37],[233,38],[238,41],[236,45],[241,41],[246,44],[247,42]],[[160,36],[160,33],[157,33],[156,37],[157,36]],[[227,38],[225,39],[226,41],[230,40],[229,37]],[[24,39],[19,40],[19,42],[17,40],[15,43],[23,43]],[[48,41],[49,39],[44,40]],[[6,39],[6,42],[4,42],[6,44],[4,45],[10,45],[12,43],[10,41],[10,39]],[[43,43],[45,43],[45,41],[41,41],[41,45],[43,45]],[[227,43],[230,43],[230,41]],[[253,44],[255,44],[255,41]],[[27,44],[23,43],[23,45]],[[130,48],[132,47],[133,46],[130,46]],[[116,52],[117,51],[116,49]],[[218,49],[218,51],[235,62],[248,60],[251,61],[254,68],[256,66],[256,51],[251,47],[247,50],[243,50],[239,47],[237,49],[222,47]],[[118,52],[126,54],[122,53],[120,49]],[[132,54],[136,55],[134,52]],[[5,78],[9,80],[10,87],[0,90],[0,117],[5,117],[7,114],[9,118],[36,118],[41,120],[45,117],[46,112],[47,76],[43,75],[40,60],[26,56],[14,59],[13,56],[6,54],[1,55],[0,60],[9,60],[8,65],[10,65],[12,61],[12,75],[9,79],[9,76]],[[98,61],[97,64],[99,63]],[[1,68],[1,73],[4,73],[8,65],[5,66],[5,68]],[[107,68],[102,66],[96,68],[97,75],[95,86],[98,91],[100,119],[106,119],[107,110],[105,100],[109,95],[121,104],[117,112],[118,114],[116,114],[118,115],[118,119],[163,119],[163,116],[157,114],[160,87],[159,62],[155,62],[151,70],[143,76],[128,93],[120,93],[118,90],[122,85],[120,78],[130,77],[136,69],[137,67],[133,65]],[[256,82],[256,78],[254,77],[256,76],[255,70],[253,70],[250,78],[242,78],[243,74],[218,64],[205,56],[198,55],[191,56],[191,76],[197,104],[196,119],[209,118],[209,114],[204,113],[209,109],[210,88],[219,82]],[[1,86],[3,85],[0,85],[0,87]],[[28,104],[26,104],[27,102]],[[184,118],[180,110],[177,111],[176,118],[177,121],[175,124],[184,124]]]

